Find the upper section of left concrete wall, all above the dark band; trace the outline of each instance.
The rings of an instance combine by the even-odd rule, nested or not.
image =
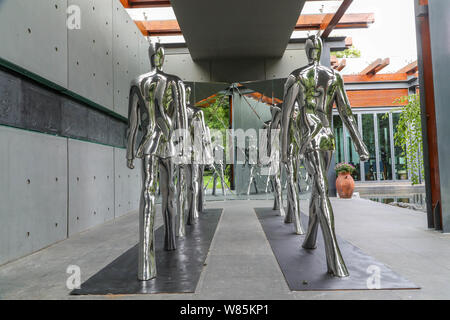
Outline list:
[[[77,8],[80,28],[67,28]],[[0,42],[3,64],[122,117],[131,80],[148,66],[148,42],[119,0],[2,0]]]

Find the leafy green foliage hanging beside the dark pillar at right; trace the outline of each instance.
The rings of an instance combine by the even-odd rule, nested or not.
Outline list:
[[[395,100],[395,103],[403,105],[390,111],[390,113],[400,111],[397,130],[394,134],[395,145],[402,149],[402,156],[406,156],[412,184],[418,184],[423,172],[420,97],[418,94],[412,94]]]

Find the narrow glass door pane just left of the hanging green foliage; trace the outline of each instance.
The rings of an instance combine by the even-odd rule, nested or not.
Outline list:
[[[378,145],[380,152],[380,180],[392,180],[391,137],[389,117],[378,113]]]

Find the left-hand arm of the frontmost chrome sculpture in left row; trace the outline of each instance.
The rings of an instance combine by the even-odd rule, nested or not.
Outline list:
[[[128,105],[127,166],[134,169],[136,137],[139,127],[139,90],[132,87]]]

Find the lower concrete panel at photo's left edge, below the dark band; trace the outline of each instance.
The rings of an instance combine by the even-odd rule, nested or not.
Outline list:
[[[0,264],[67,235],[67,139],[0,127]]]

